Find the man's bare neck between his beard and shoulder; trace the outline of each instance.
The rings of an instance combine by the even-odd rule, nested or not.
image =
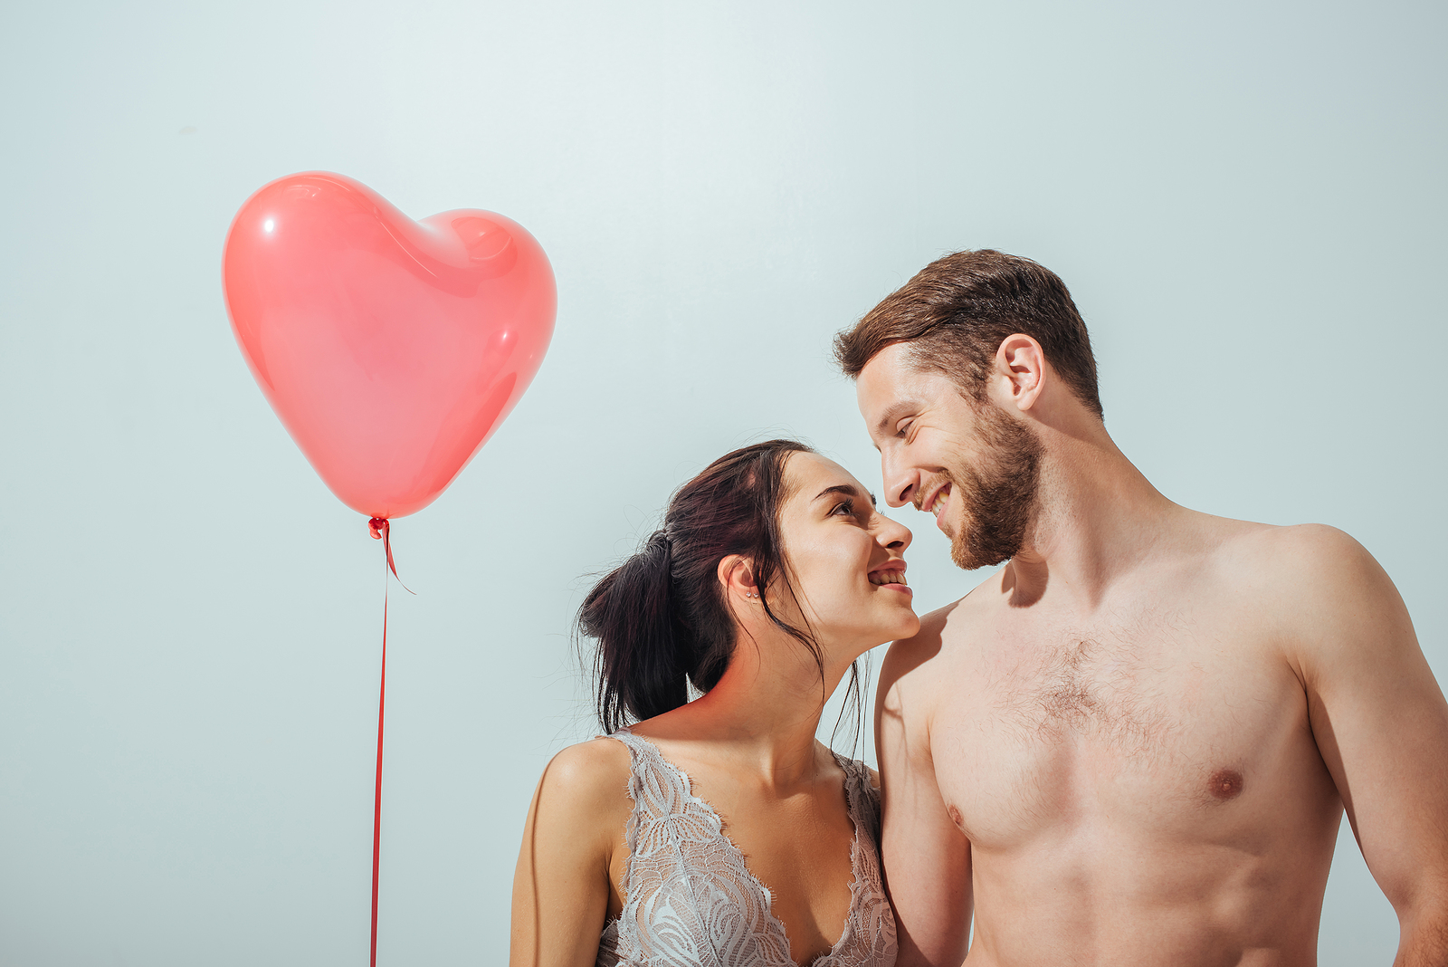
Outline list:
[[[1015,605],[1050,589],[1095,609],[1147,557],[1183,512],[1122,455],[1099,423],[1063,433],[1038,426],[1045,444],[1037,510],[1025,546],[1003,575]]]

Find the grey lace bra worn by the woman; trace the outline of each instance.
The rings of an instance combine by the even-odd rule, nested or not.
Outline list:
[[[624,838],[624,909],[604,926],[597,967],[795,967],[773,895],[744,866],[714,808],[688,774],[628,730],[634,801]],[[811,967],[891,967],[895,916],[880,884],[879,793],[859,761],[835,757],[854,822],[844,932]]]

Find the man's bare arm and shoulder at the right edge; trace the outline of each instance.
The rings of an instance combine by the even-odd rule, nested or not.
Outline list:
[[[1393,582],[1328,527],[1292,528],[1287,607],[1322,759],[1397,912],[1396,967],[1448,964],[1448,702]]]

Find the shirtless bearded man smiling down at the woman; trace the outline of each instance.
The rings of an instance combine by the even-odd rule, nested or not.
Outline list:
[[[1157,492],[1028,259],[946,256],[835,349],[891,507],[1005,563],[882,669],[899,966],[1315,964],[1344,808],[1394,963],[1448,964],[1448,704],[1377,562]]]

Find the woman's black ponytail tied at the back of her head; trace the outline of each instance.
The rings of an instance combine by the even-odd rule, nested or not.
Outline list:
[[[672,607],[672,563],[669,533],[656,530],[579,608],[579,631],[598,641],[598,719],[608,732],[689,701],[692,649]]]

